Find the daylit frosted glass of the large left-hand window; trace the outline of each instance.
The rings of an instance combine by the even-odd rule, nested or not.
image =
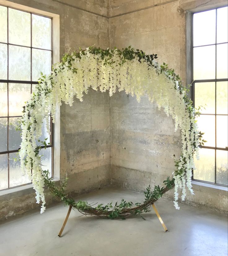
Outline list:
[[[40,72],[48,74],[52,65],[52,19],[0,5],[0,190],[31,182],[14,161],[20,147],[16,125],[25,101],[33,92]],[[51,122],[50,122],[51,123]],[[50,125],[52,130],[52,124]],[[43,124],[40,140],[42,165],[52,173],[53,139]],[[37,142],[38,143],[38,142]]]

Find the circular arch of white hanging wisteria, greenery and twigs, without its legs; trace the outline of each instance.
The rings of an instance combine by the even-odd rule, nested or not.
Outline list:
[[[182,200],[186,196],[186,187],[193,194],[193,156],[201,137],[195,121],[195,108],[174,69],[168,68],[165,63],[159,65],[156,58],[157,55],[146,55],[130,46],[122,50],[89,47],[65,54],[62,62],[55,64],[49,75],[41,74],[33,95],[24,107],[19,152],[22,169],[32,179],[37,203],[42,202],[41,213],[45,210],[45,185],[60,200],[80,212],[108,218],[124,218],[149,211],[151,204],[173,187],[174,205],[177,209],[178,189],[182,190]],[[141,96],[148,95],[149,101],[156,101],[158,107],[163,107],[166,115],[173,118],[175,131],[178,128],[181,130],[182,153],[178,160],[174,159],[172,178],[168,177],[162,187],[155,186],[153,191],[148,186],[142,203],[133,204],[123,199],[120,204],[99,204],[94,208],[85,201],[75,202],[65,192],[66,179],[57,188],[48,178],[48,170],[42,170],[39,155],[41,145],[37,146],[37,139],[42,135],[43,119],[46,119],[48,127],[51,113],[55,123],[56,107],[62,102],[72,106],[74,97],[82,101],[83,93],[87,94],[89,87],[101,92],[108,90],[110,96],[116,90],[124,90],[126,94],[135,95],[138,101]],[[46,141],[41,143],[46,146]]]

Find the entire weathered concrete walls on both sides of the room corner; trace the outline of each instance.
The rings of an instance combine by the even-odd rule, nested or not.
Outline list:
[[[185,83],[185,10],[207,6],[204,3],[208,1],[162,4],[164,1],[157,0],[151,4],[149,0],[62,0],[65,5],[53,0],[11,2],[59,14],[60,56],[70,47],[132,45],[157,53],[158,61],[175,68]],[[172,174],[171,156],[178,156],[181,149],[179,135],[179,131],[174,134],[173,120],[156,104],[150,104],[146,96],[137,103],[122,92],[109,98],[107,93],[90,90],[84,102],[76,99],[72,107],[63,104],[60,108],[60,178],[68,172],[72,194],[107,186],[110,179],[112,185],[142,192],[148,184],[160,184]],[[187,196],[186,203],[227,212],[225,190],[198,184],[193,188],[195,196]],[[166,198],[172,200],[173,191]],[[47,204],[54,201],[47,197]],[[0,219],[37,207],[32,188],[2,195]]]

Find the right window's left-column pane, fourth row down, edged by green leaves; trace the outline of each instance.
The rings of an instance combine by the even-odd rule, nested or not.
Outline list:
[[[204,132],[204,146],[215,147],[215,116],[200,115],[197,118],[199,131]]]

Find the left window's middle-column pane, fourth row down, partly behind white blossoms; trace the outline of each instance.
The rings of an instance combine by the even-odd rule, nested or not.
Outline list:
[[[21,132],[15,130],[15,126],[18,125],[19,120],[20,120],[20,117],[9,118],[9,150],[16,150],[20,148]]]

